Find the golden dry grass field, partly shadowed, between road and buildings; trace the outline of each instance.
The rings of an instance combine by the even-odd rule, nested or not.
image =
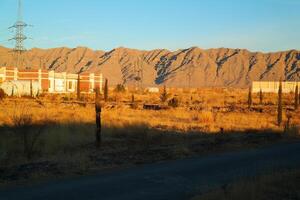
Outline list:
[[[102,169],[257,148],[298,140],[300,110],[284,94],[283,124],[277,125],[277,94],[263,104],[247,90],[170,90],[178,106],[161,94],[109,92],[102,102],[102,144],[95,147],[93,95],[43,95],[0,101],[0,182],[2,185],[93,173]],[[144,104],[163,104],[146,110]],[[284,131],[286,116],[291,116]]]

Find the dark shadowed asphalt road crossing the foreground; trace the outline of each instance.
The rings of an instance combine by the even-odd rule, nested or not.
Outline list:
[[[0,189],[1,200],[189,199],[239,178],[300,166],[300,143],[169,161],[37,186]]]

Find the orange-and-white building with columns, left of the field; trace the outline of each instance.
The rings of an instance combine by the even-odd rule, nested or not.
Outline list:
[[[0,68],[0,83],[9,81],[37,82],[40,92],[49,93],[72,93],[77,91],[78,86],[81,92],[94,92],[95,89],[99,89],[102,92],[102,79],[102,74],[100,73],[71,74],[41,69],[18,70],[11,67]]]

